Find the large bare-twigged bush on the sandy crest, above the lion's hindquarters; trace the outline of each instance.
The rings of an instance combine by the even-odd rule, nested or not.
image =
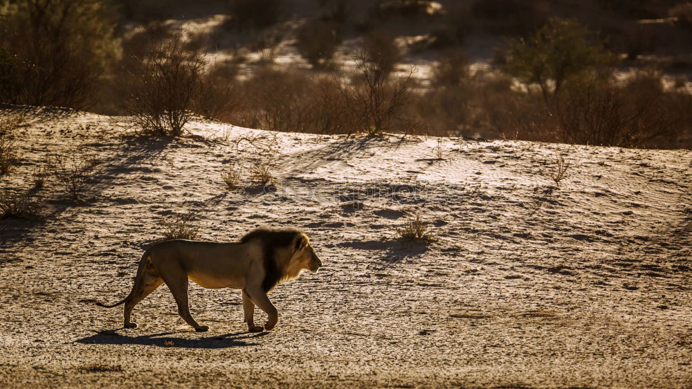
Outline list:
[[[206,89],[201,51],[188,51],[180,34],[161,44],[152,42],[143,57],[134,58],[118,89],[122,109],[145,134],[180,136],[203,100]]]

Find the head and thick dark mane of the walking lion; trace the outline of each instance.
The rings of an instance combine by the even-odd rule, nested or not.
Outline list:
[[[317,273],[322,261],[310,245],[310,239],[298,228],[257,228],[240,239],[257,240],[264,252],[266,276],[262,287],[270,291],[279,282],[298,277],[302,270]]]

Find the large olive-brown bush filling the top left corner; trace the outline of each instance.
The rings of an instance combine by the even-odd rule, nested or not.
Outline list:
[[[120,55],[107,1],[4,1],[0,102],[84,109],[100,73]]]

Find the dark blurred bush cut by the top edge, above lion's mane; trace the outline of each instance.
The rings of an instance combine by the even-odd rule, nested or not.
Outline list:
[[[262,30],[279,21],[282,0],[230,0],[226,26],[234,30]]]

